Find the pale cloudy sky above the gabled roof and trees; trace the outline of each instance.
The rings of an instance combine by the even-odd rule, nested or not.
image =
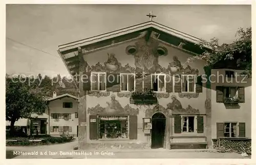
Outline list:
[[[7,5],[6,73],[68,75],[58,45],[153,20],[189,35],[231,43],[251,26],[250,5]]]

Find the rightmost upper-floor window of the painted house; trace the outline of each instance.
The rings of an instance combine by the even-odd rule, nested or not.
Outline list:
[[[182,75],[182,92],[196,92],[195,75]]]

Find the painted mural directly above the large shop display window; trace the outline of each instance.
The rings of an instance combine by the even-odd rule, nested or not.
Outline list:
[[[88,108],[88,114],[90,115],[101,115],[101,114],[127,114],[127,115],[138,115],[139,109],[132,108],[129,104],[122,107],[116,96],[111,95],[111,100],[106,102],[106,107],[101,107],[99,104],[95,107]]]

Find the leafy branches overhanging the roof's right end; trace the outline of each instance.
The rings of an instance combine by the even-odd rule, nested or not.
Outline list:
[[[251,76],[251,28],[246,30],[240,28],[236,34],[237,40],[231,44],[219,45],[217,38],[209,42],[201,40],[199,45],[205,49],[205,52],[190,58],[206,60],[208,67],[213,67],[218,62],[233,62],[237,68],[243,68],[247,76]]]

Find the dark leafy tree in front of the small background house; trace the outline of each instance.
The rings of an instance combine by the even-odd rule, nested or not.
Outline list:
[[[40,88],[32,88],[20,80],[24,78],[6,77],[6,120],[11,122],[11,135],[15,121],[30,118],[33,113],[44,113],[47,107]]]

